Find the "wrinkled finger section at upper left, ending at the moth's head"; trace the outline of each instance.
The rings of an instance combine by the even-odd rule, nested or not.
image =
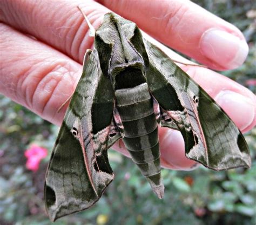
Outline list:
[[[89,36],[89,27],[78,5],[95,27],[109,12],[93,1],[3,0],[0,1],[0,21],[36,37],[82,64],[93,38]]]

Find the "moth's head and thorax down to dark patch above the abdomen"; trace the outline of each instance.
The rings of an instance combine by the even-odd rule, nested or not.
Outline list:
[[[115,89],[145,82],[144,61],[131,41],[136,28],[136,24],[109,13],[96,31],[100,66],[111,77]]]

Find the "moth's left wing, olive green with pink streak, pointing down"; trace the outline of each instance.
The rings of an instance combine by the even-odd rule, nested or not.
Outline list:
[[[60,127],[46,173],[45,204],[52,221],[92,206],[113,180],[107,159],[113,108],[111,81],[100,70],[98,54],[93,50]]]

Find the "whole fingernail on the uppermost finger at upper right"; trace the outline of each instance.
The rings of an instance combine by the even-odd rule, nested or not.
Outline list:
[[[201,53],[216,64],[234,69],[244,63],[249,48],[245,40],[224,30],[210,29],[200,40]]]

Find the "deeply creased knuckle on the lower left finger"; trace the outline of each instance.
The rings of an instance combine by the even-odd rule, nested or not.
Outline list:
[[[58,60],[33,65],[20,78],[21,93],[26,107],[49,119],[74,88],[75,76],[69,63]],[[64,101],[64,100],[63,100]]]

